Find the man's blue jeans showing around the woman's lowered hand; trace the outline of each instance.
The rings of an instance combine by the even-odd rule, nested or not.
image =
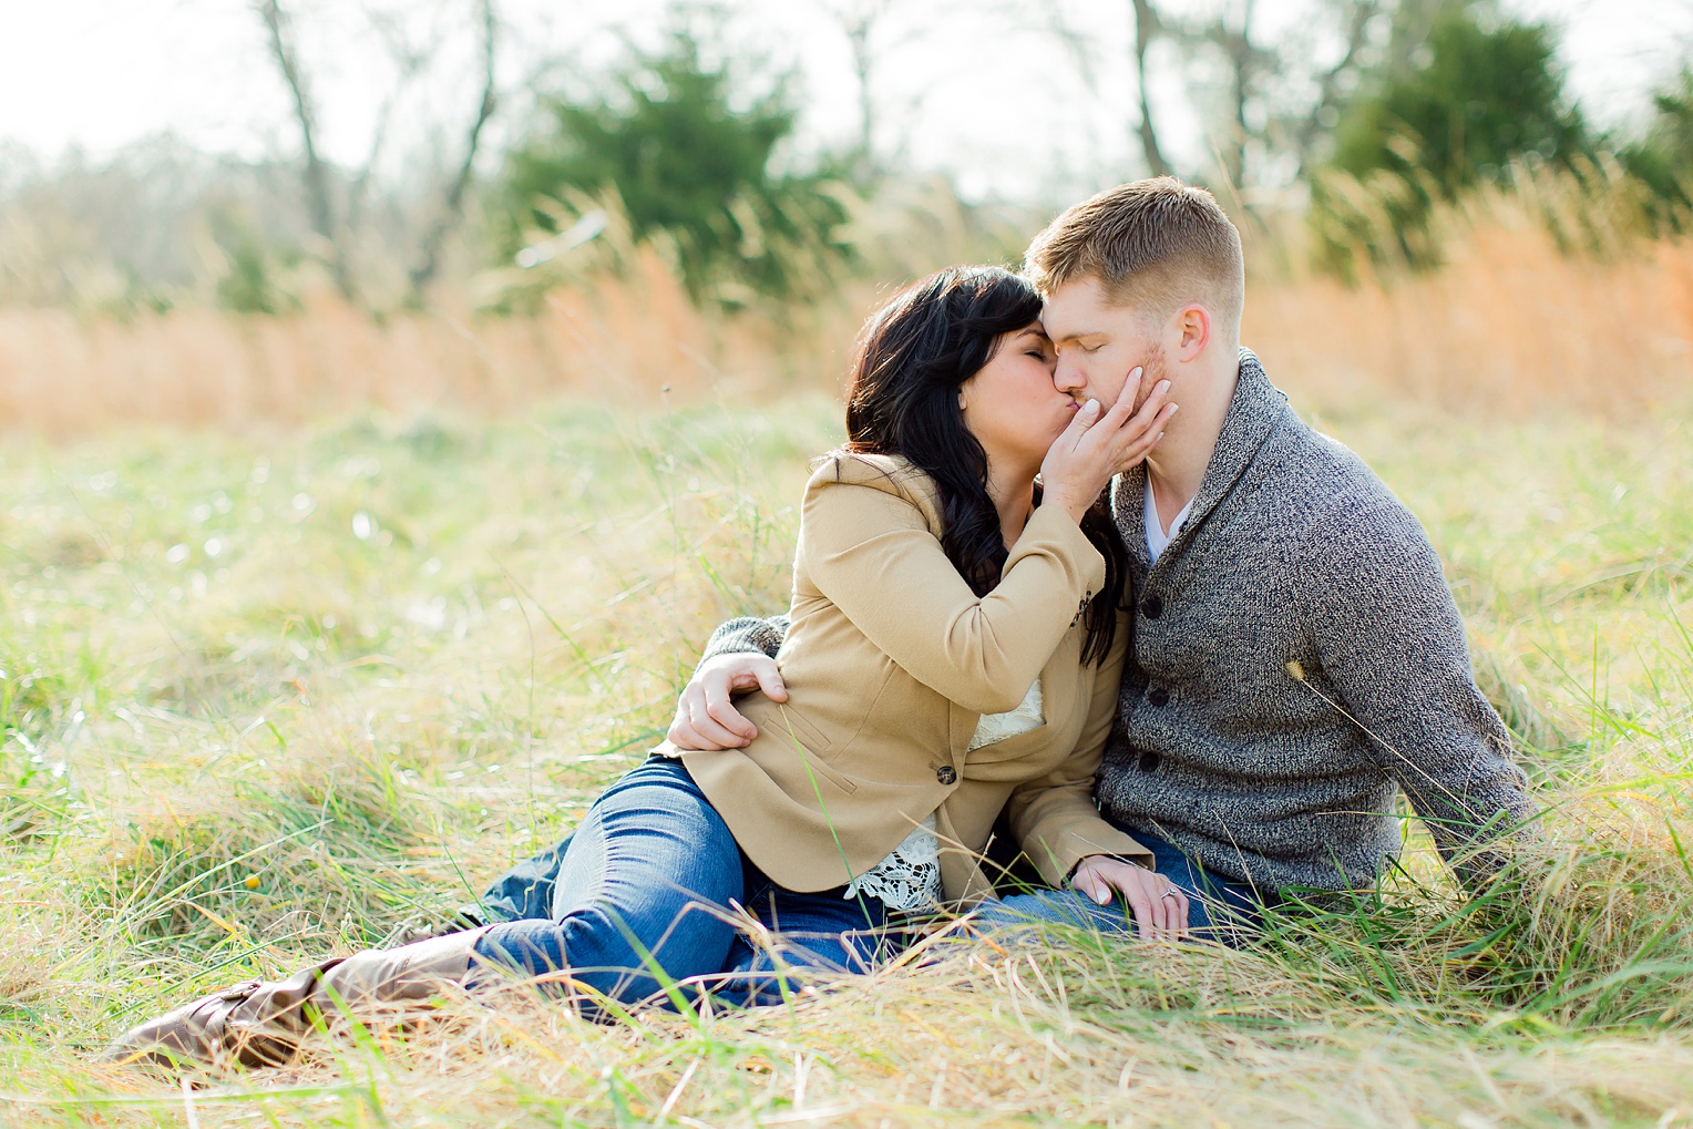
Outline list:
[[[1263,909],[1277,900],[1273,890],[1266,897],[1266,892],[1244,882],[1226,882],[1205,873],[1173,843],[1143,831],[1129,831],[1129,834],[1153,853],[1158,873],[1187,894],[1187,928],[1195,941],[1239,946],[1263,928]],[[1094,899],[1072,889],[1031,890],[1002,897],[997,902],[985,902],[977,911],[977,921],[989,928],[1055,922],[1119,936],[1134,934],[1134,919],[1122,899],[1111,906],[1099,906]]]

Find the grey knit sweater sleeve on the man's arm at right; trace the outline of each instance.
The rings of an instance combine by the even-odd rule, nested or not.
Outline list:
[[[1534,816],[1510,731],[1476,687],[1464,625],[1417,520],[1371,501],[1314,533],[1307,589],[1321,672],[1459,877],[1503,862],[1502,836]]]

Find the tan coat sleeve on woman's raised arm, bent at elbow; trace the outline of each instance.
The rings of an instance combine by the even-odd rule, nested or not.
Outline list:
[[[975,713],[1023,701],[1106,577],[1104,557],[1070,515],[1036,506],[999,586],[977,596],[911,498],[826,474],[806,489],[799,564],[906,674]]]

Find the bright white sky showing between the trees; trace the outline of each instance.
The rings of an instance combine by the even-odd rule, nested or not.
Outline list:
[[[501,0],[511,29],[501,80],[513,110],[503,127],[516,127],[535,90],[569,88],[628,41],[653,42],[665,27],[665,2]],[[865,2],[875,3],[718,3],[736,49],[794,69],[802,149],[843,146],[857,130],[850,54],[830,12]],[[393,86],[391,56],[357,15],[384,3],[406,14],[396,25],[415,41],[440,44],[432,68],[396,103],[391,162],[444,144],[442,124],[457,129],[474,107],[471,0],[295,0],[323,146],[349,164],[364,161],[378,107]],[[877,147],[887,161],[946,173],[979,198],[1062,196],[1134,171],[1128,0],[884,3],[889,15],[874,47]],[[1297,47],[1321,3],[1260,0],[1261,36],[1278,42],[1292,36]],[[1651,86],[1693,56],[1693,0],[1503,3],[1564,29],[1571,90],[1602,124],[1642,113]],[[1085,44],[1082,54],[1050,34],[1055,17]],[[542,71],[547,59],[564,63]],[[1205,140],[1192,103],[1212,76],[1173,52],[1150,71],[1165,147],[1178,164],[1202,162]],[[249,0],[0,0],[0,144],[47,161],[73,149],[100,159],[169,130],[212,152],[278,156],[296,149],[288,110]]]

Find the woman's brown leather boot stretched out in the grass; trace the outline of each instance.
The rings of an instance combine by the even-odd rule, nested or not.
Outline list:
[[[462,985],[488,926],[394,950],[325,960],[281,983],[249,980],[125,1033],[112,1063],[283,1066],[320,1026],[396,1024],[428,1009],[445,985]]]

